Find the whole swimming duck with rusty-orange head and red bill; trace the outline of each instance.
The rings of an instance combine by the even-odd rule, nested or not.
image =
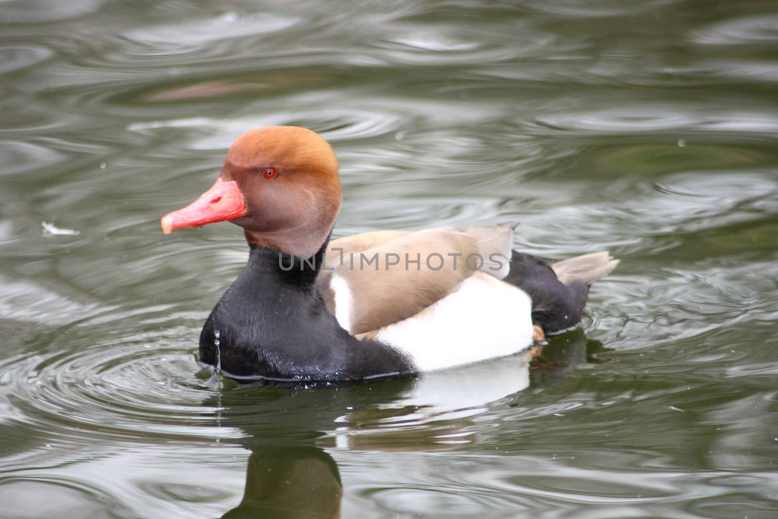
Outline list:
[[[339,382],[512,356],[574,328],[608,251],[548,264],[513,250],[512,223],[331,239],[338,157],[307,128],[241,135],[216,184],[164,233],[243,227],[249,257],[205,320],[202,363],[239,381]]]

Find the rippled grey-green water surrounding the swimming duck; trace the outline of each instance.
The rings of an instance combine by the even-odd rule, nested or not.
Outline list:
[[[778,2],[0,22],[0,516],[776,517]],[[530,364],[214,383],[198,334],[246,248],[159,216],[264,124],[335,146],[338,236],[517,220],[521,250],[622,263]]]

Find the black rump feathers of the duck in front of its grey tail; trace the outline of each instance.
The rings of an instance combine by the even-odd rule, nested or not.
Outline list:
[[[532,322],[547,334],[575,326],[589,296],[586,282],[576,280],[566,286],[548,263],[523,252],[513,251],[510,272],[504,280],[529,294]]]

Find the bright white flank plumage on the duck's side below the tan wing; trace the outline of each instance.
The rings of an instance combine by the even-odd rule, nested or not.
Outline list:
[[[421,371],[441,370],[526,349],[531,312],[523,290],[476,272],[419,314],[380,328],[378,340],[405,352]]]

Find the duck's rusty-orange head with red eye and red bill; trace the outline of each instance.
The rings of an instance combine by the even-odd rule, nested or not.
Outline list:
[[[230,221],[244,228],[249,244],[310,258],[340,204],[338,159],[328,142],[306,128],[270,126],[241,135],[216,184],[161,223],[170,233]]]

